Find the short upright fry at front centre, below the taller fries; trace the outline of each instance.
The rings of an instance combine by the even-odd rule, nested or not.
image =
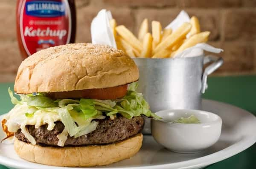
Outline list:
[[[150,33],[145,34],[143,39],[143,50],[140,57],[151,57],[152,53],[152,35]]]

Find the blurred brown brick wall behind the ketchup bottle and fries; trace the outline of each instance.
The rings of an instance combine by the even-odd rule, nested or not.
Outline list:
[[[0,0],[0,82],[13,81],[21,62],[15,6],[16,0]],[[256,0],[76,0],[76,6],[76,42],[90,42],[90,22],[103,8],[134,32],[145,17],[166,26],[185,9],[211,31],[209,44],[225,50],[216,75],[256,73]]]

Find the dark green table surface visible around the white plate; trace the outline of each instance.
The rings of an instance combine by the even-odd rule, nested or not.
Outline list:
[[[0,83],[0,114],[12,109],[7,92],[13,83]],[[230,103],[256,115],[256,75],[233,77],[209,77],[204,98]],[[206,169],[255,169],[256,144],[226,160],[214,163]],[[0,169],[8,169],[0,165]]]

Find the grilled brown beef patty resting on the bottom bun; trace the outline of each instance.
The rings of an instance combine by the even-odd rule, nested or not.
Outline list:
[[[144,126],[144,119],[142,116],[127,119],[118,115],[114,120],[106,117],[105,119],[96,121],[99,122],[96,130],[77,138],[68,136],[65,146],[86,146],[114,143],[136,135],[141,132]],[[51,131],[47,130],[47,126],[48,124],[35,129],[34,125],[27,125],[26,128],[35,138],[37,144],[41,146],[57,146],[57,135],[63,131],[64,124],[62,122],[55,122],[54,129]],[[18,140],[29,143],[29,140],[27,140],[23,135],[21,129],[15,133],[15,137],[17,137]]]

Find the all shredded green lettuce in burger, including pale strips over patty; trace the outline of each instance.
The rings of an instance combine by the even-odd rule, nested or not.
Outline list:
[[[44,93],[20,95],[20,100],[18,100],[13,96],[10,88],[8,92],[13,104],[25,105],[26,112],[24,112],[23,117],[32,119],[36,115],[35,112],[38,111],[42,113],[48,112],[48,115],[54,112],[64,124],[65,131],[71,137],[79,137],[96,129],[98,123],[93,119],[104,119],[106,116],[114,119],[117,114],[120,114],[125,118],[131,119],[134,116],[145,115],[159,119],[160,117],[149,110],[149,105],[143,95],[136,92],[137,86],[137,82],[129,84],[127,95],[116,100],[85,98],[54,100],[45,96]],[[63,141],[66,139],[66,132],[59,135],[62,140],[58,145],[64,145]]]

